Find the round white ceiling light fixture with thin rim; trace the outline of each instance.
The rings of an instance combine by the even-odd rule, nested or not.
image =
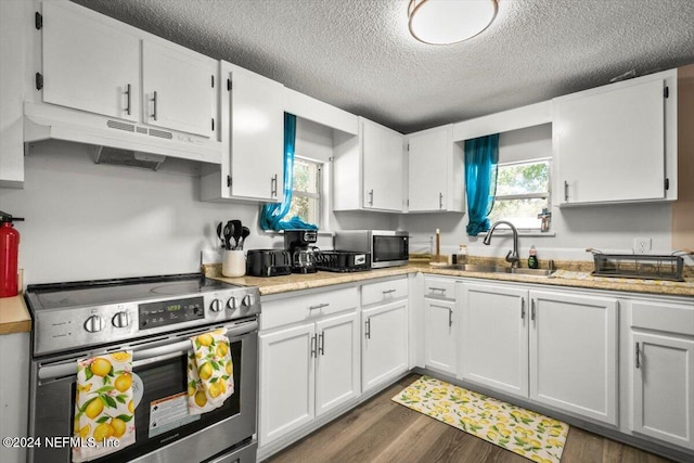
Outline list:
[[[497,0],[410,0],[410,34],[430,44],[467,40],[485,30],[497,15]]]

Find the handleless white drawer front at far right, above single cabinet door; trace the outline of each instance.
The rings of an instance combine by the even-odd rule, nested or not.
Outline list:
[[[634,300],[631,326],[694,336],[694,304]]]

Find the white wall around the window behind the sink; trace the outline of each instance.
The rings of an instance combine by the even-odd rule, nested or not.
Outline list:
[[[552,156],[552,133],[548,125],[504,132],[499,139],[499,160],[514,162]],[[671,249],[671,207],[668,204],[614,205],[581,208],[552,208],[551,233],[522,236],[519,254],[528,256],[535,245],[542,259],[591,260],[587,247],[631,253],[634,237],[651,237],[653,253]],[[539,211],[538,211],[539,213]],[[414,243],[427,243],[441,230],[441,252],[451,254],[467,244],[476,256],[504,257],[512,248],[511,236],[494,236],[490,246],[481,237],[467,236],[467,215],[423,214],[402,216],[400,227],[409,230]]]

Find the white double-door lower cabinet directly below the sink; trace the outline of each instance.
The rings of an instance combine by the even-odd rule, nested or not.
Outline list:
[[[463,285],[462,378],[617,424],[616,299]]]

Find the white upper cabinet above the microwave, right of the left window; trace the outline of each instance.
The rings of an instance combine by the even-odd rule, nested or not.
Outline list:
[[[404,137],[359,117],[359,136],[338,134],[334,146],[334,210],[404,209]]]

